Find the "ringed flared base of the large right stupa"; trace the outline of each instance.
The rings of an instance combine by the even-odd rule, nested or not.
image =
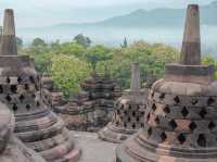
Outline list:
[[[142,132],[116,148],[115,162],[217,162],[217,150],[173,148],[142,139]]]

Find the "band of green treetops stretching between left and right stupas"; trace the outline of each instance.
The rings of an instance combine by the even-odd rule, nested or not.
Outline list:
[[[41,45],[22,48],[18,53],[35,59],[37,71],[51,74],[66,96],[79,91],[80,83],[91,72],[110,74],[123,88],[129,88],[133,62],[140,63],[142,83],[146,83],[149,78],[162,77],[165,64],[175,62],[179,55],[171,47],[142,40],[125,48],[102,45],[86,48],[75,41],[61,43],[59,40]]]

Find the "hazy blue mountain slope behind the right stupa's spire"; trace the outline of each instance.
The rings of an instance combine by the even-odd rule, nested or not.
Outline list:
[[[155,9],[145,11],[139,9],[127,15],[107,18],[97,23],[61,24],[58,26],[102,26],[102,27],[144,27],[144,26],[181,26],[186,9]],[[201,7],[201,24],[217,25],[217,1]]]

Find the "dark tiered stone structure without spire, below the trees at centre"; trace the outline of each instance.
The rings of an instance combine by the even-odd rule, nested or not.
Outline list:
[[[87,78],[81,88],[82,91],[67,105],[55,107],[54,111],[60,113],[69,129],[98,132],[111,121],[120,88],[110,78],[97,74]]]

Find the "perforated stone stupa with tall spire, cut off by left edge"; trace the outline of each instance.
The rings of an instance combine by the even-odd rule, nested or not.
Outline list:
[[[0,100],[15,114],[15,134],[48,162],[77,161],[80,150],[46,104],[41,79],[27,55],[17,55],[13,10],[4,11],[0,51]]]

